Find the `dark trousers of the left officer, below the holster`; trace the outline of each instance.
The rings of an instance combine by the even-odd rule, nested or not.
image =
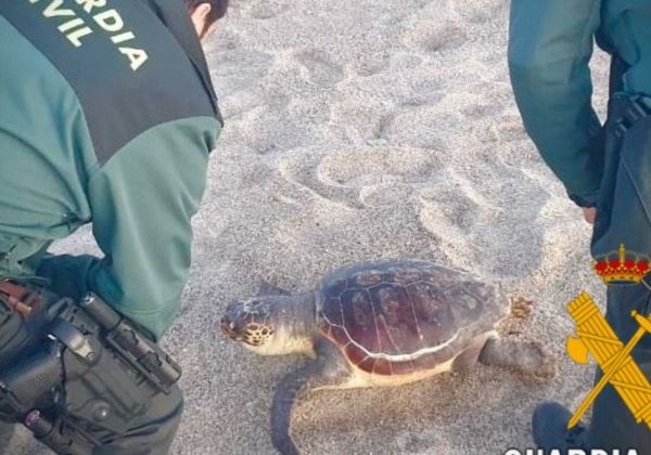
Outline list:
[[[64,364],[66,364],[65,360]],[[44,410],[44,413],[55,422],[54,430],[44,433],[44,438],[42,434],[35,433],[37,439],[60,455],[167,454],[183,411],[179,387],[174,385],[169,387],[168,393],[158,391],[152,394],[146,384],[132,381],[129,377],[115,373],[123,367],[124,365],[105,362],[95,366],[92,377],[88,377],[87,380],[68,381],[65,388],[67,403],[65,411]],[[116,378],[119,380],[115,380]],[[93,407],[93,403],[112,403],[105,408],[108,410],[107,415],[114,417],[97,419],[95,411],[99,407]],[[79,407],[79,404],[82,407]],[[129,413],[137,416],[129,416]],[[67,420],[61,420],[62,417]],[[82,439],[71,424],[84,432]],[[107,429],[102,424],[113,429]],[[116,427],[122,429],[116,430]]]

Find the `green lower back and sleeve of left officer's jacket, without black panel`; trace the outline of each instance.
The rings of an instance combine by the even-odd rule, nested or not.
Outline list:
[[[100,167],[75,93],[0,16],[0,277],[93,290],[158,338],[188,278],[190,219],[219,133],[212,117],[158,125]],[[92,222],[104,258],[41,257]]]

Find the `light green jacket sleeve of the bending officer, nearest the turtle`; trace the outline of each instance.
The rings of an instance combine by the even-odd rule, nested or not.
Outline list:
[[[53,256],[40,274],[69,296],[92,290],[158,339],[178,313],[192,226],[219,123],[157,126],[133,139],[88,182],[93,235],[104,253]]]

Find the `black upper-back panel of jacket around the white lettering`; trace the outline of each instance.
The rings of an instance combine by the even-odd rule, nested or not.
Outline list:
[[[150,8],[158,3],[162,17]],[[53,9],[52,11],[65,11],[65,14],[46,17],[48,8]],[[106,31],[93,18],[108,10],[115,10],[124,22],[116,31]],[[105,8],[90,13],[74,1],[2,1],[0,14],[43,53],[72,86],[81,102],[101,164],[156,125],[193,116],[220,118],[205,60],[200,56],[199,39],[180,0],[146,3],[112,0]],[[92,34],[79,38],[79,47],[60,31],[60,27],[73,18],[84,21],[85,26],[92,29]],[[72,27],[67,32],[77,28]],[[135,38],[113,42],[112,38],[127,31]],[[148,58],[133,70],[119,48],[142,49]]]

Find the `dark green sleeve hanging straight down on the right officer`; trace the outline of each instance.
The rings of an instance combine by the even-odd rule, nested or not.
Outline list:
[[[513,0],[509,70],[524,127],[579,205],[599,197],[601,125],[588,66],[600,0]]]

